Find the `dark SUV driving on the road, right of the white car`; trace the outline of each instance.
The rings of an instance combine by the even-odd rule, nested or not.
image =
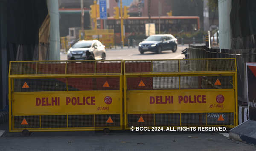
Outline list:
[[[177,50],[177,39],[171,34],[151,35],[143,42],[139,43],[139,51],[143,54],[145,51],[161,53],[162,50]]]

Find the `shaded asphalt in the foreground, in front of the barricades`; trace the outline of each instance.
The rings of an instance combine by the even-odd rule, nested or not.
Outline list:
[[[6,132],[0,151],[255,151],[252,145],[208,132],[102,131],[35,132],[22,137]]]

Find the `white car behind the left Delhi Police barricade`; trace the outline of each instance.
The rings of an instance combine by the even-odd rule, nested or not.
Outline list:
[[[80,40],[67,52],[68,60],[89,60],[90,58],[95,60],[106,59],[105,45],[102,45],[99,40]]]

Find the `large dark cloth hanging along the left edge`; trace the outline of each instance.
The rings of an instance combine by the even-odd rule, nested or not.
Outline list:
[[[0,0],[0,110],[8,94],[9,61],[38,59],[38,31],[46,0]]]

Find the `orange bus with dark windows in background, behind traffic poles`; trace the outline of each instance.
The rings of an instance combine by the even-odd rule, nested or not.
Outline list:
[[[149,17],[129,17],[124,20],[125,37],[131,35],[145,35],[145,24],[149,22]],[[159,29],[159,17],[151,17],[151,23],[155,23],[156,33]],[[103,29],[103,20],[98,19],[97,24]],[[108,17],[106,21],[107,29],[114,29],[115,42],[120,43],[121,21],[113,17]],[[160,17],[161,34],[177,34],[180,31],[191,33],[200,29],[200,17],[198,16],[163,16]]]

